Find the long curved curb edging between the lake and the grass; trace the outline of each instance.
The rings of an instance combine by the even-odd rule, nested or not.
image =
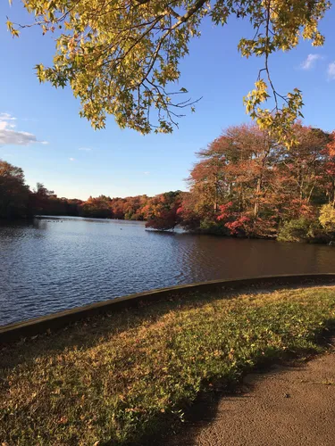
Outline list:
[[[84,307],[64,310],[40,318],[0,326],[0,343],[8,343],[24,336],[57,330],[83,318],[90,318],[106,311],[118,311],[124,308],[138,307],[147,301],[162,301],[168,297],[186,295],[194,292],[222,291],[230,292],[247,287],[260,288],[278,285],[335,285],[335,273],[299,274],[282,276],[246,277],[237,279],[212,280],[191,285],[177,285],[144,293],[116,297],[109,301],[100,301]]]

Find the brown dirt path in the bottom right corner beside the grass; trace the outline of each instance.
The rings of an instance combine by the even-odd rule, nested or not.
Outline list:
[[[245,377],[242,393],[199,403],[164,446],[335,446],[335,350]]]

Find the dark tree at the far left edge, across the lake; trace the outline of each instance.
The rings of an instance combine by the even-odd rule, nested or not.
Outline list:
[[[0,160],[0,219],[25,217],[28,202],[29,187],[23,170]]]

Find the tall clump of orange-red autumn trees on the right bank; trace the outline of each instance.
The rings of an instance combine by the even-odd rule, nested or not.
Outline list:
[[[320,205],[333,205],[334,139],[299,122],[292,131],[299,144],[288,151],[255,125],[224,130],[198,153],[181,225],[222,235],[272,237],[283,225],[316,234]]]

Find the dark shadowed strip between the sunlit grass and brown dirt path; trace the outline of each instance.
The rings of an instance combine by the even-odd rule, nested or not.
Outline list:
[[[335,319],[329,319],[327,326],[321,333],[315,336],[315,343],[324,351],[335,344]],[[155,432],[146,434],[138,442],[129,443],[130,446],[194,446],[201,430],[214,423],[219,413],[222,399],[236,402],[253,398],[250,394],[255,390],[259,381],[269,376],[281,376],[283,373],[294,369],[303,371],[306,362],[315,359],[320,351],[306,349],[295,352],[276,351],[274,358],[260,359],[255,367],[245,369],[238,380],[217,382],[214,388],[205,388],[197,395],[192,405],[184,408],[185,416],[180,420],[170,420],[169,429],[163,422],[157,425]],[[249,378],[249,379],[247,379]],[[289,396],[288,396],[289,398]]]

